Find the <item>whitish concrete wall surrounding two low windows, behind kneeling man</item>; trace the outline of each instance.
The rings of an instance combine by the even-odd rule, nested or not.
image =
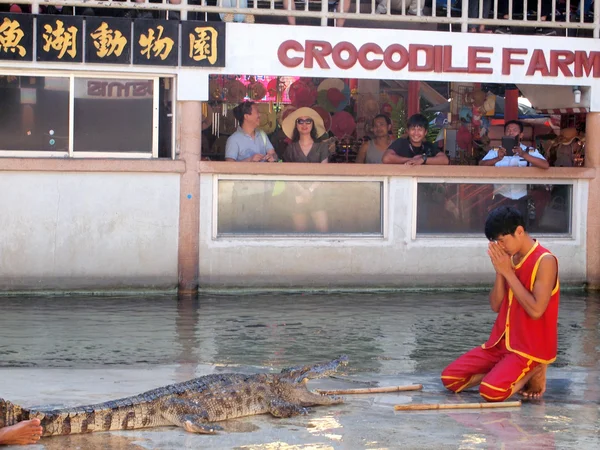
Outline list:
[[[388,231],[384,238],[215,239],[212,225],[216,181],[211,174],[201,175],[200,287],[435,287],[493,282],[483,230],[479,238],[414,238],[415,178],[385,179],[389,190]],[[500,180],[485,180],[494,181]],[[541,243],[559,258],[563,283],[583,283],[586,275],[588,181],[573,182],[573,236],[541,238]]]

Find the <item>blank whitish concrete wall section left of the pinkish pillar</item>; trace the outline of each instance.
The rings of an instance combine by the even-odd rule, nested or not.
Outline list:
[[[0,290],[175,288],[178,173],[2,172]]]

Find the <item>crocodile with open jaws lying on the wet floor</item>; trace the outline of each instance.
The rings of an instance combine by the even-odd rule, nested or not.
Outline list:
[[[222,420],[267,413],[292,417],[306,414],[309,406],[343,403],[339,397],[310,391],[307,382],[329,376],[347,362],[348,357],[342,355],[280,373],[205,375],[132,397],[73,408],[24,408],[0,398],[0,428],[38,418],[42,437],[173,425],[191,433],[214,434],[222,430],[215,422]]]

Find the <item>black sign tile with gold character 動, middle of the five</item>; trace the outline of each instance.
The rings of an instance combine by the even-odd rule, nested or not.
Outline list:
[[[131,20],[86,17],[85,62],[131,63]]]

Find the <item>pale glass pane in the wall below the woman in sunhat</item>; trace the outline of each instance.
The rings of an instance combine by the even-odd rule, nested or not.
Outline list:
[[[218,235],[383,234],[379,181],[219,180]]]

